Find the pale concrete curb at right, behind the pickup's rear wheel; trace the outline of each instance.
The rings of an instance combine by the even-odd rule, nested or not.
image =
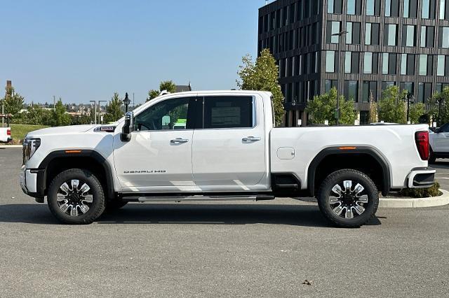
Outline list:
[[[443,194],[439,197],[429,197],[420,199],[379,199],[379,208],[424,208],[436,207],[449,204],[449,192],[440,190]]]

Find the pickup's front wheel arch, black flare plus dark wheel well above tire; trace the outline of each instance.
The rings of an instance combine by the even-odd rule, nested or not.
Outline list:
[[[46,156],[39,164],[42,175],[39,181],[41,194],[46,195],[51,180],[66,169],[86,169],[97,174],[98,180],[105,187],[108,199],[114,197],[114,179],[112,168],[99,152],[95,150],[57,150]]]

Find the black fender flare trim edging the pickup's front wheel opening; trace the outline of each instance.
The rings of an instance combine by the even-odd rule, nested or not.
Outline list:
[[[107,197],[113,198],[114,197],[114,178],[112,178],[112,168],[109,162],[103,157],[100,153],[98,153],[95,150],[86,150],[86,149],[70,149],[70,150],[56,150],[53,152],[50,152],[39,164],[39,168],[37,169],[38,172],[38,189],[40,190],[39,194],[43,197],[44,190],[46,188],[46,169],[48,167],[48,164],[55,159],[59,157],[89,157],[95,159],[100,166],[105,170],[106,173],[106,189],[105,192],[107,194]],[[39,186],[40,184],[40,186]]]

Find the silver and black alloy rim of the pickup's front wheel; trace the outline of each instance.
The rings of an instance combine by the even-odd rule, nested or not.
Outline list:
[[[69,180],[62,183],[56,194],[59,208],[70,216],[87,213],[93,203],[93,194],[88,193],[91,187],[86,183],[80,184],[79,180]]]

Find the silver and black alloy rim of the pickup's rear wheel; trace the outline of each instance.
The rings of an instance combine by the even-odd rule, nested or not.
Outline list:
[[[354,218],[365,212],[368,204],[368,194],[365,187],[357,183],[354,187],[352,180],[344,180],[332,187],[329,204],[333,212],[342,218]]]

